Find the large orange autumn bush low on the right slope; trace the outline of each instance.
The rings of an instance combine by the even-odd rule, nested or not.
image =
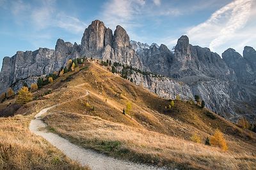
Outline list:
[[[225,141],[225,138],[223,137],[223,134],[220,132],[220,130],[215,130],[214,135],[212,135],[210,139],[211,146],[218,146],[221,148],[221,150],[228,150],[227,143]]]

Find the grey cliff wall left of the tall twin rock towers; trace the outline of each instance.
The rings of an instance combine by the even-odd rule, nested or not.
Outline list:
[[[18,51],[12,58],[4,58],[0,73],[0,93],[7,88],[17,91],[24,82],[30,85],[41,75],[60,70],[68,59],[77,58],[77,44],[58,39],[55,50],[40,48],[35,51]]]

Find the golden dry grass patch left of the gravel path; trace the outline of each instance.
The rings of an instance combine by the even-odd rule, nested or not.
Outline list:
[[[0,118],[0,169],[88,169],[31,134],[31,116]]]

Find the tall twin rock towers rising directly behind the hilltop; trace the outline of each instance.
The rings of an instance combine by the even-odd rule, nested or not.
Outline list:
[[[114,35],[104,23],[95,20],[85,29],[81,40],[81,56],[104,61],[117,61],[125,65],[142,68],[140,58],[130,45],[130,38],[125,29],[116,26]]]

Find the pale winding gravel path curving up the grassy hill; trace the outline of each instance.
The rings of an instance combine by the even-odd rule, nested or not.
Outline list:
[[[88,91],[86,95],[89,95]],[[85,95],[85,96],[86,96]],[[66,101],[68,102],[68,101]],[[76,160],[83,166],[90,166],[92,169],[160,169],[155,166],[148,166],[145,164],[136,164],[133,162],[127,162],[124,160],[118,160],[116,158],[108,157],[101,153],[97,153],[93,150],[88,150],[77,146],[76,144],[70,143],[67,139],[60,137],[60,135],[48,132],[45,130],[47,125],[42,121],[42,115],[45,114],[49,109],[56,107],[59,104],[52,105],[42,109],[38,114],[35,115],[35,119],[31,120],[29,124],[29,130],[36,135],[40,135],[46,141],[51,143],[53,146],[61,150],[67,157],[72,160]],[[161,168],[164,169],[164,168]]]

